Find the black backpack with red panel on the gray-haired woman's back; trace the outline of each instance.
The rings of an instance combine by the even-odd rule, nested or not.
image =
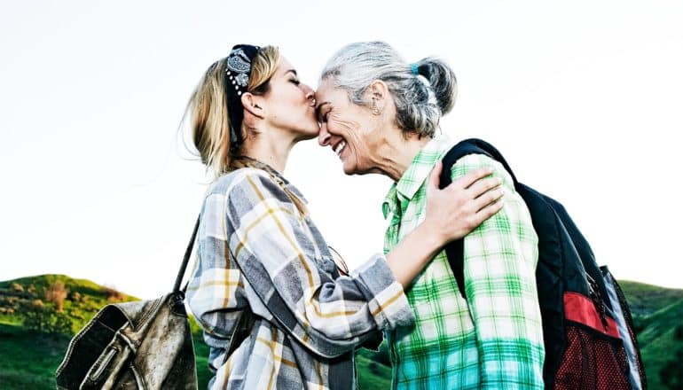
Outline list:
[[[624,293],[554,199],[517,182],[496,148],[467,139],[446,153],[441,188],[451,183],[451,167],[467,154],[499,161],[512,176],[538,234],[536,282],[546,347],[546,388],[647,388],[638,340]],[[463,242],[445,248],[459,292],[467,300],[463,275]]]

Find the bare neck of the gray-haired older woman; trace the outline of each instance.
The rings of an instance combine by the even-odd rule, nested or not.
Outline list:
[[[431,138],[411,134],[407,139],[403,136],[401,129],[392,129],[387,137],[381,142],[381,146],[374,153],[373,171],[382,175],[387,175],[395,182],[401,179],[405,171],[410,167],[412,160],[418,155],[420,149],[427,144]]]

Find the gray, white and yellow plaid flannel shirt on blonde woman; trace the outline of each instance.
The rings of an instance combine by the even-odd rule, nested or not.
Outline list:
[[[209,387],[355,388],[354,348],[378,330],[412,324],[412,309],[381,254],[340,276],[315,224],[271,175],[223,175],[202,207],[187,302],[211,348]],[[247,306],[255,325],[227,356]]]

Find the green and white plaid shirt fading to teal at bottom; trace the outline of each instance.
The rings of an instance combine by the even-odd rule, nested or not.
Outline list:
[[[452,142],[429,141],[387,194],[385,252],[425,217],[426,183]],[[400,389],[543,388],[543,330],[535,269],[538,237],[529,210],[497,161],[469,155],[453,180],[492,167],[503,179],[504,207],[465,238],[465,290],[458,290],[444,251],[406,292],[414,327],[387,331],[392,384]]]

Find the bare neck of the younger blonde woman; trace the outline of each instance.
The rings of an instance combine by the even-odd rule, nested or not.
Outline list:
[[[287,158],[294,144],[294,137],[283,135],[275,129],[265,129],[257,136],[247,136],[242,154],[268,164],[282,174],[285,172]]]

